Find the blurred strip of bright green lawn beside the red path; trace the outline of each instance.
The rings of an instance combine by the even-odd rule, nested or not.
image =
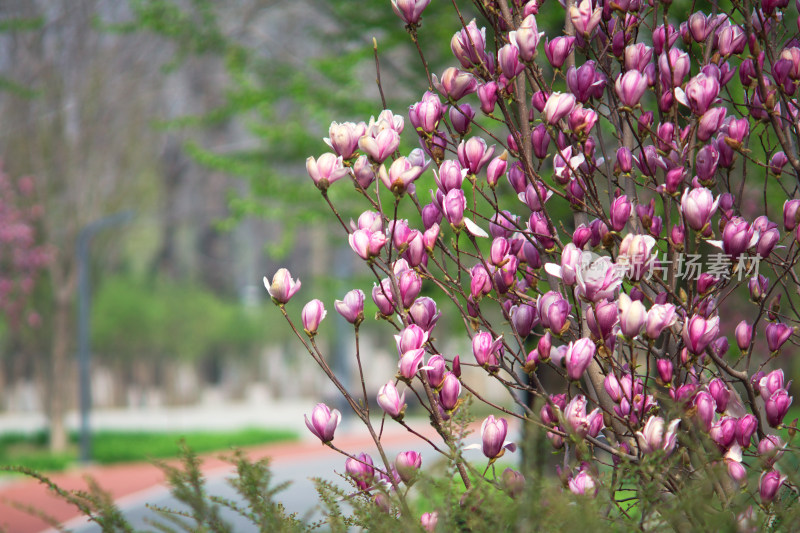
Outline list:
[[[227,432],[126,432],[101,431],[92,436],[92,461],[100,464],[148,461],[176,457],[180,441],[197,453],[229,450],[234,447],[257,446],[296,440],[297,433],[288,430],[242,429]],[[63,470],[78,458],[78,435],[70,435],[70,449],[64,454],[51,454],[45,432],[25,435],[0,435],[0,467],[26,466],[35,470]]]

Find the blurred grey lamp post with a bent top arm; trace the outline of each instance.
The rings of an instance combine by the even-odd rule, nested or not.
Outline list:
[[[81,410],[81,441],[80,460],[88,463],[92,455],[91,430],[89,428],[89,411],[92,406],[92,391],[90,385],[90,309],[91,286],[89,282],[89,246],[92,237],[99,231],[120,224],[125,224],[133,218],[133,211],[122,211],[109,215],[84,226],[78,233],[78,242],[75,246],[75,255],[78,260],[78,386],[80,387]]]

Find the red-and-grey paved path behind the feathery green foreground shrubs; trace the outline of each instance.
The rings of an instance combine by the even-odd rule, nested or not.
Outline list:
[[[439,437],[433,433],[427,421],[410,423],[435,442],[439,442]],[[342,487],[348,485],[334,473],[334,471],[344,471],[344,457],[320,444],[307,430],[302,435],[304,440],[301,442],[249,449],[247,454],[251,460],[272,457],[275,484],[283,481],[291,482],[288,489],[278,495],[277,500],[283,503],[289,512],[306,516],[313,513],[318,506],[317,494],[310,478],[322,477]],[[400,451],[414,449],[421,451],[423,464],[426,460],[435,460],[433,451],[417,437],[395,424],[387,425],[382,442],[388,450],[390,459]],[[378,457],[368,433],[356,425],[343,424],[337,431],[334,443],[351,453],[364,451],[370,453],[373,458]],[[204,457],[203,472],[208,479],[208,492],[230,498],[234,493],[227,485],[226,478],[230,476],[232,470],[229,464],[219,459],[219,455],[210,454]],[[145,506],[146,503],[178,507],[176,502],[170,499],[168,490],[163,485],[163,473],[149,463],[76,469],[54,475],[53,480],[63,488],[83,490],[86,487],[85,475],[95,478],[99,485],[112,495],[137,529],[153,529],[148,526],[147,519],[155,515]],[[65,524],[68,529],[80,532],[99,531],[96,524],[87,524],[84,519],[77,519],[75,509],[50,494],[45,486],[25,479],[6,481],[0,486],[0,529],[4,528],[9,533],[39,533],[47,531],[49,527],[43,520],[10,505],[9,501],[43,509],[60,523]],[[226,513],[225,517],[231,519],[235,531],[255,531],[253,526],[236,521],[235,514]]]

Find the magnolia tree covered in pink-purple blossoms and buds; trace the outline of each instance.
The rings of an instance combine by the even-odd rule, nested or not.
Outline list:
[[[552,446],[563,489],[547,498],[592,502],[606,520],[678,530],[709,516],[744,530],[786,520],[797,490],[780,368],[798,320],[795,6],[715,2],[681,22],[667,1],[486,0],[470,21],[453,2],[454,66],[434,74],[417,39],[428,2],[392,0],[426,73],[407,120],[384,109],[334,122],[331,151],[307,161],[375,275],[397,374],[377,397],[365,386],[361,289],[335,303],[356,335],[361,380],[347,388],[315,342],[324,304],[290,316],[300,281],[285,269],[265,280],[379,457],[339,449],[341,414],[324,404],[309,430],[347,456],[359,494],[395,519],[419,524],[426,511],[429,530],[459,526],[456,511],[409,499],[436,457],[473,514],[542,486],[495,470],[515,449],[509,426],[540,429]],[[544,9],[563,10],[563,30],[539,31]],[[377,53],[376,68],[380,87]],[[420,148],[403,155],[401,135]],[[328,195],[348,187],[338,181],[362,202],[356,221]],[[436,300],[420,296],[426,286]],[[463,327],[437,331],[445,315]],[[438,349],[454,338],[472,353]],[[480,372],[462,375],[467,366]],[[478,380],[508,400],[482,396]],[[403,420],[411,398],[436,439]],[[464,438],[468,398],[493,412],[480,444]],[[387,456],[388,419],[420,448]]]

